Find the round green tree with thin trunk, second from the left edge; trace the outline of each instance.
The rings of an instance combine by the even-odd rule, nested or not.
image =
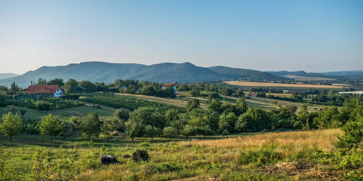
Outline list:
[[[39,132],[42,135],[50,136],[50,143],[53,142],[52,136],[59,135],[64,130],[65,124],[59,120],[59,115],[48,114],[41,118]]]

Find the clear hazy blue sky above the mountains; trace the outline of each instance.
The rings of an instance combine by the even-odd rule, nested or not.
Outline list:
[[[0,73],[87,61],[363,69],[363,0],[0,1]]]

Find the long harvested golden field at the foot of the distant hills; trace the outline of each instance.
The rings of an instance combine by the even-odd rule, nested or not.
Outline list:
[[[342,86],[334,86],[334,85],[281,84],[281,83],[265,83],[265,82],[227,81],[224,83],[231,85],[253,86],[253,87],[343,88]]]

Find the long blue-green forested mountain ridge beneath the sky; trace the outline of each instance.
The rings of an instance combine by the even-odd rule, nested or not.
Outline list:
[[[20,87],[28,87],[30,81],[38,78],[46,80],[55,77],[67,81],[70,78],[90,80],[92,82],[112,83],[116,79],[138,79],[158,81],[160,83],[178,81],[190,83],[195,81],[283,79],[270,73],[242,68],[223,66],[198,67],[191,63],[159,63],[150,66],[135,63],[107,63],[107,62],[83,62],[66,66],[40,67],[34,71],[28,71],[23,75],[0,80],[0,85],[10,85],[15,81]]]

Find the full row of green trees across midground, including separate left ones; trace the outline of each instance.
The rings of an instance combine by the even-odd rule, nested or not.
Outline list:
[[[126,135],[134,140],[139,137],[215,135],[229,132],[254,132],[264,129],[290,128],[309,130],[313,128],[338,128],[347,123],[357,122],[363,115],[363,102],[359,98],[346,100],[343,107],[326,107],[320,111],[307,111],[307,104],[296,113],[295,106],[279,107],[272,111],[265,111],[256,107],[248,107],[243,99],[235,104],[213,99],[208,109],[201,109],[199,100],[187,103],[186,113],[176,109],[167,111],[158,108],[142,107],[134,111],[120,108],[115,111],[113,118],[106,118],[102,122],[98,113],[90,113],[85,117],[71,117],[74,130],[79,131],[86,138],[103,133],[109,135],[114,131],[126,131]],[[59,116],[48,114],[35,125],[29,126],[40,134],[52,137],[64,132],[65,123]],[[20,116],[15,112],[4,114],[0,121],[0,131],[5,135],[19,134],[23,128]],[[27,127],[28,128],[28,127]]]

